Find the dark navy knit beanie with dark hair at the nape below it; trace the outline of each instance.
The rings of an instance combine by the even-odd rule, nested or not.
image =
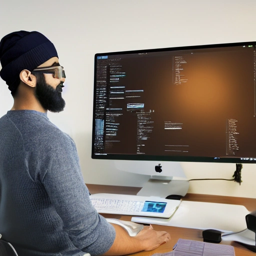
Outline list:
[[[52,42],[37,31],[16,31],[5,35],[0,41],[1,78],[14,92],[15,82],[23,69],[32,71],[51,57],[58,57]]]

